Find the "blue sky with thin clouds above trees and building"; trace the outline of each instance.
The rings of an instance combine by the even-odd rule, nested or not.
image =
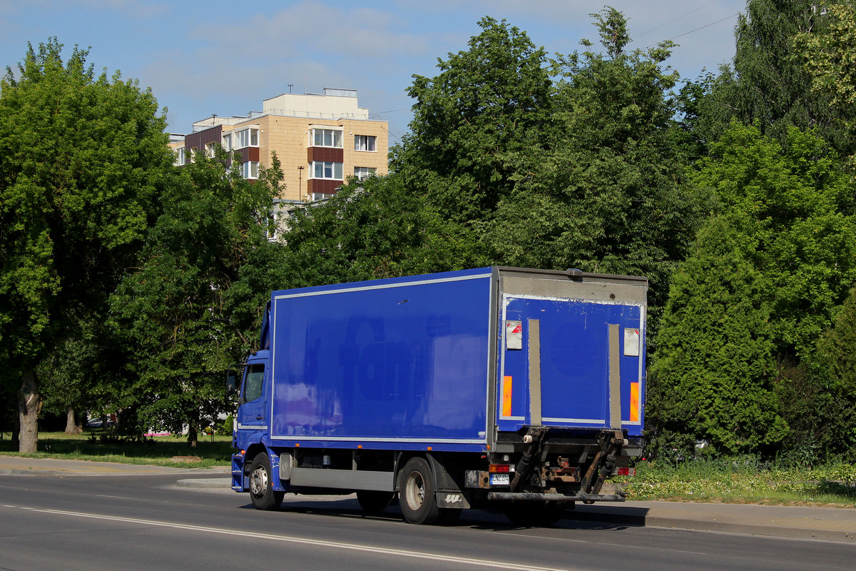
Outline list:
[[[674,38],[680,47],[668,63],[687,78],[731,60],[735,15],[746,7],[745,0],[0,0],[0,64],[14,68],[27,42],[51,36],[67,49],[91,47],[95,68],[152,87],[174,133],[211,114],[261,110],[288,84],[294,92],[357,89],[360,106],[389,121],[395,143],[411,118],[411,76],[433,76],[437,57],[465,50],[482,16],[506,19],[548,52],[567,54],[581,38],[597,40],[589,13],[606,3],[629,18],[632,48]]]

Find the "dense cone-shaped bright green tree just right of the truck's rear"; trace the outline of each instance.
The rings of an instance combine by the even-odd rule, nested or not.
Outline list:
[[[776,413],[769,284],[752,264],[747,217],[716,217],[681,265],[649,375],[647,422],[728,453],[773,449]],[[742,230],[742,231],[741,231]]]

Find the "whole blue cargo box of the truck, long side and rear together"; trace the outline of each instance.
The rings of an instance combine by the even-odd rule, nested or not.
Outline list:
[[[591,432],[610,427],[610,407],[639,436],[647,282],[582,276],[495,267],[273,292],[270,351],[257,354],[270,389],[254,418],[274,448],[495,450],[538,413],[541,425]],[[509,348],[513,322],[521,348]],[[624,332],[621,403],[610,403],[610,324]],[[638,347],[625,347],[634,331]]]

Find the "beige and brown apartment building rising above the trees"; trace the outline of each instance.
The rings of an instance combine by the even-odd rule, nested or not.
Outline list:
[[[245,178],[259,176],[271,153],[282,165],[285,190],[277,202],[329,198],[349,176],[387,173],[389,125],[369,118],[357,92],[325,88],[323,94],[284,93],[265,99],[261,111],[247,116],[211,116],[193,123],[193,133],[170,146],[176,164],[217,145],[241,156]]]

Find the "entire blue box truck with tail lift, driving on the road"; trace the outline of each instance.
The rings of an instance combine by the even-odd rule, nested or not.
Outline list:
[[[397,495],[405,520],[549,525],[620,502],[639,455],[644,277],[508,267],[275,291],[239,391],[232,488]]]

